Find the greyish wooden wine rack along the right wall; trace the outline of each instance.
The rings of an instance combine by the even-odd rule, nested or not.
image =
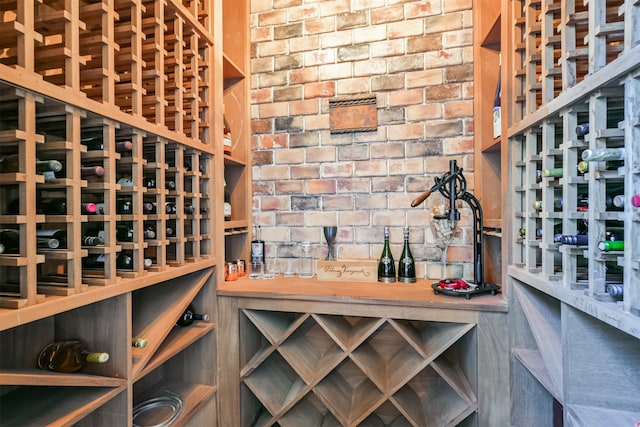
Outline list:
[[[640,3],[522,0],[503,2],[502,14],[512,424],[551,425],[555,400],[565,425],[633,425],[640,382],[625,373],[640,368],[640,211],[631,204],[640,193]],[[582,124],[589,132],[579,136]],[[623,148],[623,166],[592,162],[580,173],[583,151],[598,148]],[[537,178],[551,168],[562,176]],[[607,205],[614,186],[623,209]],[[624,250],[599,250],[614,227]],[[587,245],[554,240],[585,229]]]

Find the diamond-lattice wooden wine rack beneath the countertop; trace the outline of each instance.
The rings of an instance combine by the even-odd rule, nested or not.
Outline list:
[[[243,426],[464,425],[477,411],[474,324],[242,309],[239,332]]]

